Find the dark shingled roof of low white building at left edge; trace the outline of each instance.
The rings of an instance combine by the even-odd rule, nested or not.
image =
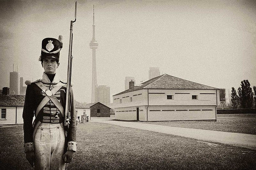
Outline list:
[[[4,95],[0,94],[0,106],[20,106],[23,107],[25,102],[24,95]]]

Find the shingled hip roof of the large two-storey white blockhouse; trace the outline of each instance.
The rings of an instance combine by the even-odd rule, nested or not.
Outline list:
[[[139,87],[135,87],[134,89],[127,89],[116,95],[121,95],[127,92],[136,91],[140,89],[211,89],[212,90],[212,89],[218,89],[218,88],[184,80],[168,74],[163,74],[143,82],[142,85]],[[113,95],[113,96],[116,96],[116,95]]]

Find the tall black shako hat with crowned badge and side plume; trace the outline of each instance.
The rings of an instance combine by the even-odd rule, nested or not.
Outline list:
[[[43,61],[46,57],[55,58],[57,62],[60,59],[60,50],[63,46],[62,35],[59,36],[59,40],[55,38],[45,38],[42,40],[42,50],[39,61]]]

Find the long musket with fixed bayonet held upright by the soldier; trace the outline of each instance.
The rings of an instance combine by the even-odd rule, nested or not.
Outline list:
[[[70,121],[71,110],[71,71],[72,71],[72,43],[73,43],[73,23],[76,22],[76,7],[75,7],[75,20],[70,21],[70,36],[69,36],[69,50],[68,50],[68,78],[67,78],[67,91],[66,91],[66,108],[64,113],[64,125],[68,126]]]

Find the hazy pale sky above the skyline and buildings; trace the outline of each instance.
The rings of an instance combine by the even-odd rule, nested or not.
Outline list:
[[[204,85],[237,89],[256,85],[255,1],[77,1],[73,27],[75,99],[91,102],[92,14],[98,85],[124,91],[125,76],[148,80],[149,67]],[[13,64],[24,80],[41,78],[38,58],[46,37],[64,37],[58,73],[66,81],[70,20],[75,1],[0,2],[0,88],[9,87]]]

